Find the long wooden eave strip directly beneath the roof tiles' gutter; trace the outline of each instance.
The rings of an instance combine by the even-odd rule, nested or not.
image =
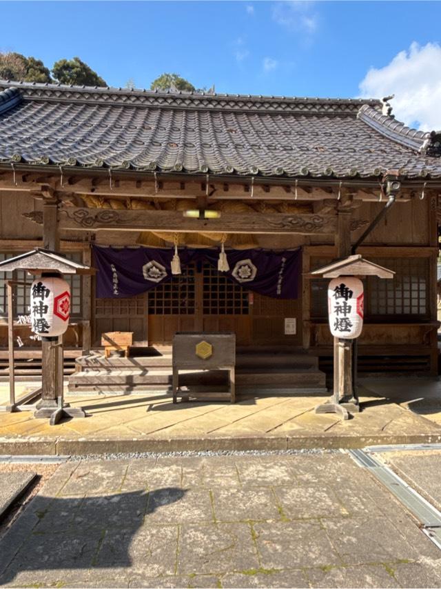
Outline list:
[[[438,181],[440,184],[440,181]],[[208,186],[207,186],[208,185]],[[432,186],[427,181],[427,190]],[[41,192],[49,187],[61,196],[94,194],[112,198],[192,198],[208,200],[256,199],[280,201],[340,201],[349,195],[359,201],[379,201],[378,178],[313,179],[299,177],[240,176],[234,174],[182,174],[48,166],[0,164],[0,190]],[[421,190],[421,181],[403,183],[397,201],[407,201]]]

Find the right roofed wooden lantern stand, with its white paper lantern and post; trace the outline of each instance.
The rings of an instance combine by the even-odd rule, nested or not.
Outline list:
[[[353,389],[352,350],[362,332],[364,292],[362,278],[377,276],[391,279],[395,272],[363,259],[359,254],[319,268],[311,277],[330,278],[328,286],[329,329],[334,336],[334,391],[327,403],[316,407],[316,413],[338,413],[349,419],[359,412],[358,397]]]

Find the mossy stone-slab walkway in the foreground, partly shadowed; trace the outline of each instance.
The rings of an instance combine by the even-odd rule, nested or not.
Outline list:
[[[340,452],[64,463],[0,540],[2,586],[440,581],[441,550]]]

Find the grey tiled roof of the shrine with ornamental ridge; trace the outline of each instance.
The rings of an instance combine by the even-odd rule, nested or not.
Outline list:
[[[210,174],[441,177],[440,135],[376,100],[0,81],[0,164]]]

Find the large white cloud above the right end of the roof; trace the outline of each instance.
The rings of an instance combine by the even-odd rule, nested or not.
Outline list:
[[[441,46],[412,43],[384,68],[371,68],[360,82],[363,98],[395,94],[393,114],[422,131],[441,129]]]

